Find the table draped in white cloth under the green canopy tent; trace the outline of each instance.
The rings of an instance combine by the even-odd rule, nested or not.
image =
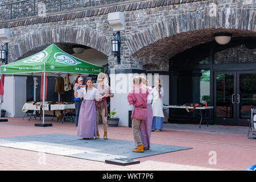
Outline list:
[[[34,103],[27,102],[23,105],[22,111],[24,113],[26,113],[28,110],[36,111],[36,115],[34,115],[33,112],[30,115],[28,114],[29,115],[28,121],[30,121],[30,118],[32,115],[34,115],[34,117],[40,117],[40,114],[38,111],[43,110],[42,104],[43,104],[43,102],[34,102]],[[52,104],[52,102],[44,103],[44,110],[45,111],[53,111],[53,117],[55,116],[56,111],[60,111],[60,113],[63,115],[62,123],[66,117],[66,111],[71,110],[71,109],[76,109],[75,104],[64,104],[64,103]],[[64,113],[62,113],[63,111],[64,111]],[[24,119],[24,117],[23,117],[23,119]]]

